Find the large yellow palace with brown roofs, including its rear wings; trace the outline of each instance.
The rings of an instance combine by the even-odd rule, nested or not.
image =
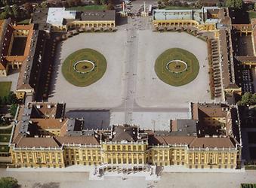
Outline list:
[[[192,104],[192,120],[174,120],[169,132],[113,125],[88,130],[64,117],[65,104],[36,102],[20,110],[11,140],[16,167],[96,165],[101,170],[148,165],[239,168],[239,125],[226,105]],[[231,115],[230,115],[231,114]]]

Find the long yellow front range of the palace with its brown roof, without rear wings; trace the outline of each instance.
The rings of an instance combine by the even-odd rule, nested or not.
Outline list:
[[[120,127],[137,129],[133,126],[116,126]],[[187,168],[236,168],[240,156],[239,144],[233,144],[232,138],[147,134],[144,137],[140,141],[102,141],[95,135],[21,138],[17,144],[11,145],[11,157],[17,167],[106,165],[107,168],[113,168],[134,165],[140,168],[150,164],[183,165]],[[149,137],[154,141],[150,141]]]

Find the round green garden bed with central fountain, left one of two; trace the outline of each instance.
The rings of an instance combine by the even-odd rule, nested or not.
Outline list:
[[[96,50],[85,48],[70,54],[62,65],[65,79],[75,86],[89,86],[103,77],[106,59]]]

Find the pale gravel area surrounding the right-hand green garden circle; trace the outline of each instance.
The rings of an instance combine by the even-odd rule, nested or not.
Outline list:
[[[199,60],[199,74],[184,86],[162,82],[154,70],[157,57],[169,48],[178,47],[193,53]],[[188,102],[213,102],[208,77],[205,41],[184,32],[139,32],[136,102],[141,107],[171,107]]]

